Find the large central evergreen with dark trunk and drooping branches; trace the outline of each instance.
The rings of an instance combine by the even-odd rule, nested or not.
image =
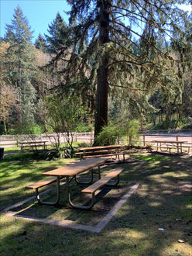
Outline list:
[[[173,62],[178,65],[179,62],[170,56],[166,43],[167,36],[173,36],[176,30],[182,33],[187,19],[175,5],[180,0],[67,2],[71,5],[74,44],[64,70],[69,78],[66,85],[71,80],[73,86],[78,83],[81,87],[87,84],[97,87],[95,136],[108,124],[108,93],[124,95],[140,112],[149,100],[149,92],[157,88],[165,95],[170,89],[166,100],[181,94],[182,77],[178,69],[172,69]],[[157,44],[159,38],[165,45],[163,50]],[[68,50],[57,49],[54,61],[62,59]]]

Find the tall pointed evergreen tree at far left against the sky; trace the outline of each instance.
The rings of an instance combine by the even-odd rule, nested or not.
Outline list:
[[[34,109],[33,100],[35,92],[30,82],[33,73],[34,57],[31,40],[32,32],[30,31],[29,22],[26,16],[23,16],[22,10],[18,6],[15,9],[12,24],[6,25],[5,41],[9,42],[9,48],[7,50],[9,61],[6,63],[9,70],[9,78],[18,92],[17,113],[19,133],[22,133],[22,121],[31,119],[31,116],[28,115],[29,112],[25,110],[26,107],[32,106],[31,110]],[[27,97],[26,87],[28,88]],[[30,123],[30,125],[32,124],[33,122]]]

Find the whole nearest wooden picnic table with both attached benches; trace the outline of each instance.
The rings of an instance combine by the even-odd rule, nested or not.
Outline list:
[[[119,182],[119,174],[122,172],[122,168],[115,169],[114,171],[111,171],[108,175],[106,175],[104,178],[101,178],[101,172],[100,172],[100,165],[104,164],[105,161],[108,158],[91,158],[84,161],[80,161],[75,164],[70,164],[68,166],[64,166],[61,168],[54,169],[52,171],[46,171],[42,175],[48,175],[52,176],[53,178],[49,178],[46,181],[43,182],[37,182],[33,185],[28,185],[26,188],[28,189],[36,189],[36,199],[38,202],[46,204],[46,205],[55,205],[58,202],[60,202],[60,179],[66,178],[66,192],[67,192],[67,201],[70,204],[70,206],[77,208],[77,209],[90,209],[92,206],[94,206],[95,202],[95,195],[94,193],[100,189],[103,185],[107,184],[109,181],[111,181],[112,178],[117,177],[117,182],[109,185],[117,185]],[[92,168],[98,167],[98,182],[95,182],[94,184],[90,185],[93,182],[93,170]],[[91,171],[91,178],[88,182],[80,182],[77,180],[77,175],[83,173],[84,171]],[[79,206],[75,205],[71,199],[70,199],[70,182],[75,179],[77,184],[87,184],[90,185],[86,189],[83,189],[82,193],[88,193],[92,195],[91,204],[88,206]],[[49,185],[52,182],[57,182],[57,199],[55,202],[43,202],[39,198],[39,192],[38,189],[40,187],[43,187],[44,185]]]

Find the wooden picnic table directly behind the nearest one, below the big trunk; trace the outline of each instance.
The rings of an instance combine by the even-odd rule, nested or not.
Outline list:
[[[118,157],[120,161],[120,155],[125,161],[125,154],[127,152],[124,150],[125,146],[123,145],[109,145],[109,146],[99,146],[99,147],[79,147],[75,154],[82,159],[91,158],[91,157]]]

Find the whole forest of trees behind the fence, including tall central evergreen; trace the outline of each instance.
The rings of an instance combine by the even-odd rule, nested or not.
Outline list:
[[[0,134],[91,131],[95,120],[97,133],[134,119],[192,128],[191,14],[171,1],[68,3],[69,22],[58,12],[35,43],[19,6],[6,25]]]

